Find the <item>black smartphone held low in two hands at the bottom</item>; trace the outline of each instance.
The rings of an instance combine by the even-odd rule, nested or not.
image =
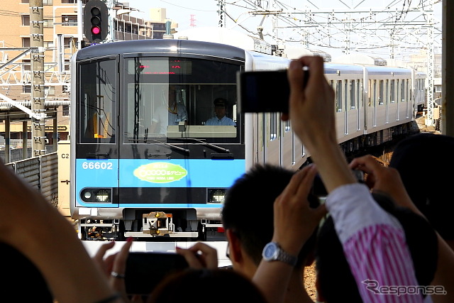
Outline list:
[[[126,292],[148,295],[167,275],[188,267],[186,259],[177,253],[129,253],[125,272]]]

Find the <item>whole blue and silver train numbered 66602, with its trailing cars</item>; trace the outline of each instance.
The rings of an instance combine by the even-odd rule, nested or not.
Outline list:
[[[237,111],[237,72],[288,65],[289,59],[270,55],[258,40],[250,48],[134,40],[75,53],[70,206],[80,237],[223,239],[223,197],[237,177],[257,162],[297,170],[309,157],[278,113]],[[383,143],[414,120],[423,74],[333,63],[325,69],[336,92],[337,136],[345,152]],[[228,101],[227,116],[236,126],[205,125],[218,97]],[[186,107],[188,119],[161,121],[167,131],[158,133],[155,114],[169,98]]]

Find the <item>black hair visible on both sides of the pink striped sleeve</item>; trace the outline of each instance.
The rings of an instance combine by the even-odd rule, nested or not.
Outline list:
[[[373,197],[382,209],[392,214],[404,228],[419,285],[430,285],[438,260],[436,232],[422,216],[397,206],[389,197],[375,193]],[[319,290],[326,302],[362,302],[331,216],[328,216],[320,228],[315,255]]]

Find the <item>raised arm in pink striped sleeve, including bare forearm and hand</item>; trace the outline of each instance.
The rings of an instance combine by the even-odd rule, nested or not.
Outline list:
[[[304,67],[309,68],[309,79],[304,79]],[[363,300],[382,302],[387,298],[366,289],[365,280],[375,280],[380,286],[417,285],[402,226],[375,203],[365,185],[356,182],[337,143],[334,93],[324,77],[322,58],[294,60],[288,75],[292,128],[309,150],[328,190],[326,207]],[[422,300],[420,295],[400,298]]]

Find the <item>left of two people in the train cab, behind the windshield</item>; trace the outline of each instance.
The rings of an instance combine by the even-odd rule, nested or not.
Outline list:
[[[174,86],[169,86],[169,94],[167,105],[157,107],[155,114],[151,119],[152,124],[150,133],[167,133],[168,125],[178,125],[179,122],[187,123],[186,107],[177,101],[177,89]],[[159,124],[159,128],[157,128]]]

